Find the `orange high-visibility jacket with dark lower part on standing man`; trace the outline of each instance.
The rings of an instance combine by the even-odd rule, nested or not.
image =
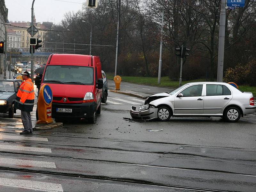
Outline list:
[[[32,80],[22,82],[20,89],[17,93],[14,107],[21,111],[33,111],[35,100],[34,86]]]

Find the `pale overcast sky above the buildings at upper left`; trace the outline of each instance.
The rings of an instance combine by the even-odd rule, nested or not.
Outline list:
[[[9,21],[31,21],[33,0],[5,0]],[[82,9],[86,0],[35,0],[34,13],[36,22],[49,21],[59,23],[63,15],[69,11]]]

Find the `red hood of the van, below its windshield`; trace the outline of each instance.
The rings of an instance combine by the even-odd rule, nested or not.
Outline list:
[[[77,84],[50,84],[52,95],[55,97],[76,97],[84,98],[86,92],[92,92],[93,85]],[[42,84],[42,86],[44,83]]]

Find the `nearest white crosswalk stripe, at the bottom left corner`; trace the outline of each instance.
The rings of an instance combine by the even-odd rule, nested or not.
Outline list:
[[[63,192],[61,184],[42,181],[0,178],[0,186],[17,187],[46,192]]]

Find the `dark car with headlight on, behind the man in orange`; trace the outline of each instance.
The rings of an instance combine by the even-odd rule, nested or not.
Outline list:
[[[16,113],[13,105],[21,83],[19,79],[0,80],[0,113],[8,112],[9,118]]]

